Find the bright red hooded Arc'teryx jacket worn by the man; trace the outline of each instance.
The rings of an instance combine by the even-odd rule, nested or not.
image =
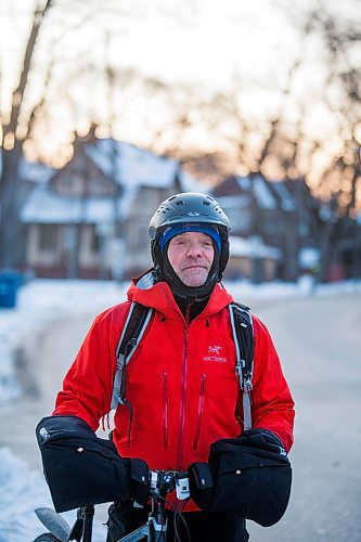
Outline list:
[[[188,323],[169,286],[141,289],[133,282],[128,301],[100,314],[60,391],[53,414],[76,415],[94,430],[111,408],[115,351],[130,302],[155,309],[127,366],[129,411],[115,414],[114,442],[121,456],[140,457],[151,468],[186,469],[207,461],[211,442],[242,433],[242,397],[228,305],[217,284],[201,314]],[[254,317],[253,426],[274,431],[289,450],[294,403],[265,325]]]

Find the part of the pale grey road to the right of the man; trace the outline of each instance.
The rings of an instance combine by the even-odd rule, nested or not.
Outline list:
[[[253,542],[361,541],[361,296],[259,311],[296,401],[294,483],[283,520]]]

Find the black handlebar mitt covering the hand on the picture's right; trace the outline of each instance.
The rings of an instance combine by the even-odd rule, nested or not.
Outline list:
[[[208,466],[191,466],[197,480],[192,498],[199,508],[234,511],[263,527],[282,518],[289,501],[292,468],[282,442],[271,431],[249,429],[241,437],[218,440],[210,447]]]

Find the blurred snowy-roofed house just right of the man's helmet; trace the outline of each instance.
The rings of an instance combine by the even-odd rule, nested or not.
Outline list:
[[[293,281],[298,276],[298,234],[296,201],[282,182],[271,182],[260,173],[231,176],[214,188],[217,198],[230,218],[232,234],[261,240],[278,249],[279,279]],[[254,261],[253,279],[262,280],[259,261]]]

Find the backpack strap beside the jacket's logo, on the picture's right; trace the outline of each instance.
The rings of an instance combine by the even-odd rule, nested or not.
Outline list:
[[[243,392],[244,430],[252,428],[250,392],[254,372],[254,327],[249,307],[230,304],[230,317],[236,352],[235,373]]]

